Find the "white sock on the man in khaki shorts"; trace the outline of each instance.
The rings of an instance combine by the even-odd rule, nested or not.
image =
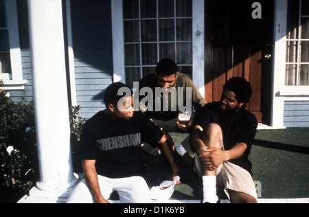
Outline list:
[[[216,176],[203,176],[203,203],[217,203]]]

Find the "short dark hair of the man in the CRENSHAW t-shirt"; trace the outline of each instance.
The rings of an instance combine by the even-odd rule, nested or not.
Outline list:
[[[133,95],[133,91],[130,89],[130,87],[128,87],[128,85],[123,84],[122,82],[115,82],[109,85],[104,92],[104,103],[106,108],[109,104],[117,105],[119,100],[124,97],[125,93],[118,95],[118,91],[122,87],[129,89],[131,95]]]

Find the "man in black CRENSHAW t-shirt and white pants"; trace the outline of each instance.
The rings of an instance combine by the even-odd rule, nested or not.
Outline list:
[[[106,110],[83,126],[80,152],[84,180],[73,190],[68,203],[108,203],[116,191],[122,203],[150,203],[143,176],[141,146],[159,146],[170,163],[172,176],[179,176],[172,148],[163,132],[146,115],[135,112],[133,96],[118,95],[125,84],[111,84],[104,93]]]

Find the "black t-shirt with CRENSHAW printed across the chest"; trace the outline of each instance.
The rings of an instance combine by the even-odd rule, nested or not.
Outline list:
[[[141,144],[156,146],[163,132],[146,115],[135,112],[128,120],[112,120],[100,111],[83,126],[81,156],[96,160],[98,174],[111,179],[144,176]]]

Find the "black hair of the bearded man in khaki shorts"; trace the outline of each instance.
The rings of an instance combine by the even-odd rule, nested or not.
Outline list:
[[[252,95],[252,87],[246,79],[240,77],[234,77],[227,81],[223,86],[223,89],[229,89],[236,93],[236,99],[238,102],[247,104],[250,101]]]

